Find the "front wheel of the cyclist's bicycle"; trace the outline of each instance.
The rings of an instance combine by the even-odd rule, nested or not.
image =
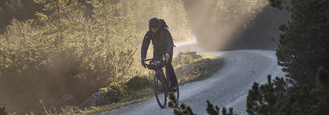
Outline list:
[[[164,108],[167,104],[167,94],[165,93],[164,83],[161,82],[160,72],[156,72],[153,77],[154,94],[158,105]]]

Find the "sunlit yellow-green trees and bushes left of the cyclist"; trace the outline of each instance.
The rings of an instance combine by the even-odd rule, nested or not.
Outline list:
[[[114,16],[120,5],[86,2],[94,9],[85,17],[85,4],[77,0],[34,1],[53,13],[36,12],[30,23],[13,20],[0,35],[0,102],[20,108],[17,114],[36,108],[37,101],[27,101],[38,99],[77,106],[99,88],[129,77],[136,35],[123,26],[123,17]]]

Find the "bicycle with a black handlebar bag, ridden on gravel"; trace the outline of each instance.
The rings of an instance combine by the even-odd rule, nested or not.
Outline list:
[[[169,76],[168,76],[169,74],[166,71],[164,75],[162,69],[163,67],[166,68],[164,65],[167,63],[167,61],[164,60],[163,58],[164,56],[145,60],[145,62],[150,61],[149,64],[146,64],[144,62],[145,68],[156,71],[153,76],[153,87],[154,87],[155,98],[158,102],[158,105],[161,108],[164,108],[166,106],[168,93],[170,92]],[[178,101],[179,87],[178,87],[177,79],[176,79],[176,88],[177,88],[177,92],[171,92],[171,93],[174,93],[174,95],[176,96],[176,101]]]

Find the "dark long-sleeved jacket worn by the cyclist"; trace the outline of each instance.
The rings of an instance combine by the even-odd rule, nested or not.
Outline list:
[[[172,36],[170,34],[169,29],[162,28],[161,24],[160,24],[159,30],[156,33],[154,33],[152,31],[151,27],[149,27],[148,29],[149,30],[146,32],[146,34],[144,36],[142,47],[140,49],[141,58],[146,59],[146,53],[147,53],[148,46],[151,43],[151,39],[152,39],[154,50],[167,49],[166,53],[168,53],[168,54],[172,53],[173,47],[174,47],[174,42],[172,41]],[[161,33],[161,31],[162,31],[162,33]],[[152,34],[153,34],[153,38],[152,38]]]

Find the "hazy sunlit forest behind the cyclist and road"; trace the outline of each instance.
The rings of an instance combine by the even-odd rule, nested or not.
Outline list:
[[[139,48],[153,16],[174,43],[194,34],[207,51],[275,50],[290,12],[267,0],[0,0],[0,104],[17,114],[41,111],[38,99],[78,106],[147,73]]]

